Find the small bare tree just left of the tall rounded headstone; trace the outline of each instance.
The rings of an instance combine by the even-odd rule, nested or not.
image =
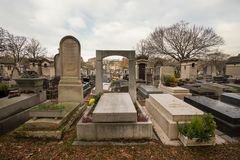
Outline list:
[[[39,57],[45,56],[47,53],[46,48],[43,48],[40,42],[36,39],[31,39],[27,44],[28,56],[33,59],[38,59]]]

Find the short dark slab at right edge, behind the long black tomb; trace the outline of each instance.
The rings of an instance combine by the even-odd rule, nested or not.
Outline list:
[[[221,95],[221,101],[240,107],[240,94],[237,93],[223,93]]]

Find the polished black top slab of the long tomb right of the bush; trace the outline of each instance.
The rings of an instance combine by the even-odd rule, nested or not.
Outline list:
[[[231,124],[240,124],[239,107],[204,96],[185,97],[184,101]]]

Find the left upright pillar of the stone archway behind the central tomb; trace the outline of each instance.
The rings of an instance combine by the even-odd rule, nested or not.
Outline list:
[[[102,59],[96,59],[96,93],[103,92],[103,69],[102,69]]]

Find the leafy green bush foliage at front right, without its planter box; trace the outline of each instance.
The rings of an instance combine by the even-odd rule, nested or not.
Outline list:
[[[181,134],[190,139],[198,138],[199,141],[208,141],[212,136],[214,136],[215,129],[216,122],[210,113],[204,114],[202,117],[193,117],[191,123],[183,125],[178,124],[178,131]]]

